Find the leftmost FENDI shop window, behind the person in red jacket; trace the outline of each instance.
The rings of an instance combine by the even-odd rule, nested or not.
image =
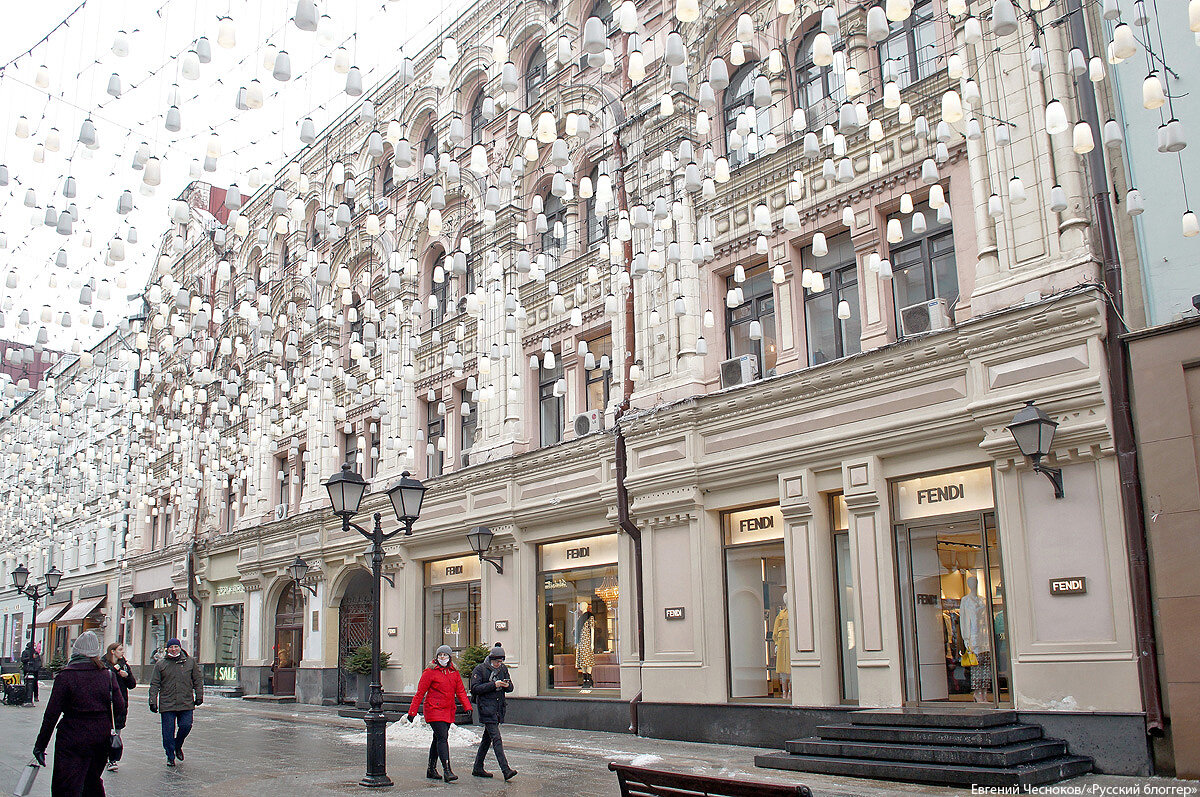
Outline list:
[[[479,645],[479,557],[425,563],[425,654]]]

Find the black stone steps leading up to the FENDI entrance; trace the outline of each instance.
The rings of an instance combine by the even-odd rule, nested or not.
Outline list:
[[[946,786],[1038,786],[1092,769],[1012,711],[866,709],[785,743],[755,765]]]

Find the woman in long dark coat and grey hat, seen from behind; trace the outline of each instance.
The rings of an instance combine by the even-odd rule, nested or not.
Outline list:
[[[100,658],[100,637],[84,631],[71,646],[67,666],[54,676],[34,757],[46,766],[46,745],[54,742],[53,797],[103,797],[104,765],[112,729],[125,725],[126,702],[113,673]],[[60,720],[61,718],[61,720]]]

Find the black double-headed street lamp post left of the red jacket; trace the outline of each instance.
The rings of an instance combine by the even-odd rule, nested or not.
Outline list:
[[[390,786],[392,783],[391,778],[388,777],[388,719],[383,713],[383,678],[379,672],[379,593],[383,580],[383,544],[398,534],[401,529],[397,528],[390,534],[384,534],[380,513],[374,514],[374,526],[371,531],[350,522],[350,517],[358,514],[359,504],[362,503],[367,483],[366,479],[350,469],[348,462],[342,465],[338,473],[329,478],[329,481],[325,483],[325,490],[329,491],[329,503],[334,507],[334,514],[342,519],[342,531],[349,532],[353,528],[371,543],[371,603],[374,609],[374,622],[371,624],[371,708],[364,718],[367,725],[367,773],[359,781],[359,785]],[[421,514],[425,490],[425,485],[413,479],[408,471],[404,471],[400,479],[388,487],[388,498],[391,501],[396,519],[401,522],[406,535],[413,533],[413,523]],[[296,568],[298,564],[302,564],[307,571],[307,564],[296,557],[296,562],[289,568],[293,577],[298,571],[293,568]]]

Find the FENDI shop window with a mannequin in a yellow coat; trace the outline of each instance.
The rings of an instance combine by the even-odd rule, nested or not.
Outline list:
[[[791,619],[778,505],[725,515],[730,697],[790,699]]]

